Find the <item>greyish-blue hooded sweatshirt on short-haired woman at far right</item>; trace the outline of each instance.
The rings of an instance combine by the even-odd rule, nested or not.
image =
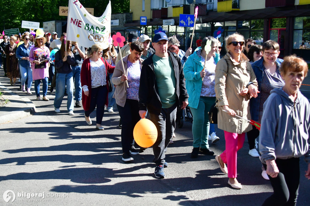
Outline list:
[[[264,103],[259,132],[261,161],[305,156],[310,163],[310,104],[298,90],[293,102],[281,88]]]

